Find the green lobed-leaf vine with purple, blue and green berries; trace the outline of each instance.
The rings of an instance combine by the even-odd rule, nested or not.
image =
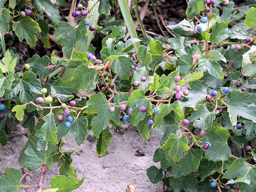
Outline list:
[[[0,175],[1,191],[42,191],[53,162],[60,163],[59,175],[51,179],[52,189],[44,191],[78,188],[84,178],[78,180],[71,166],[75,150],[62,150],[65,138],[74,134],[79,146],[92,130],[102,156],[111,141],[109,124],[122,126],[122,121],[137,126],[147,139],[150,131],[164,132],[153,157],[161,167],[147,169],[151,182],[163,181],[163,191],[256,191],[254,7],[233,12],[234,3],[228,0],[190,0],[187,19],[168,26],[175,34],[169,39],[122,42],[126,30],[115,26],[102,39],[103,63],[97,64],[93,49],[74,50],[78,42],[87,44],[89,30],[99,29],[87,19],[91,10],[77,5],[71,15],[81,19],[72,26],[60,20],[56,5],[65,5],[63,0],[0,3],[2,32],[13,30],[30,46],[36,39],[45,47],[53,41],[66,55],[33,55],[22,71],[15,71],[19,56],[5,52],[1,38],[0,142],[7,144],[6,123],[15,114],[15,122],[30,132],[19,165],[28,170],[42,167],[38,185],[22,184],[22,172],[7,167]],[[226,7],[220,13],[221,3]],[[108,15],[110,4],[101,0],[99,12]],[[61,79],[60,67],[75,69],[70,79]],[[230,146],[241,148],[242,155]]]

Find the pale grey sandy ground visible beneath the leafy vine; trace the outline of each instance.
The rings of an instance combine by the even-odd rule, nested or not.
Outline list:
[[[125,124],[124,128],[118,133],[113,128],[112,141],[108,145],[108,151],[102,157],[97,156],[96,143],[86,139],[81,146],[77,146],[74,137],[68,137],[63,151],[77,149],[73,157],[73,167],[76,169],[78,179],[84,177],[83,185],[76,192],[124,192],[127,185],[132,183],[137,192],[160,192],[162,183],[154,185],[147,177],[147,168],[151,165],[159,167],[158,163],[153,162],[155,150],[160,146],[163,133],[151,131],[149,140],[141,137],[130,124]],[[7,146],[0,151],[0,172],[4,172],[5,167],[21,169],[18,165],[18,157],[25,146],[28,137],[21,135],[8,141]],[[90,140],[90,141],[89,141]],[[145,156],[135,156],[138,148],[145,152]],[[50,188],[50,179],[59,174],[59,165],[53,164],[52,170],[47,170],[43,188]],[[39,180],[41,169],[31,171],[36,180]],[[30,177],[26,177],[26,182],[22,184],[36,185]],[[22,188],[19,191],[37,191],[33,188]]]

